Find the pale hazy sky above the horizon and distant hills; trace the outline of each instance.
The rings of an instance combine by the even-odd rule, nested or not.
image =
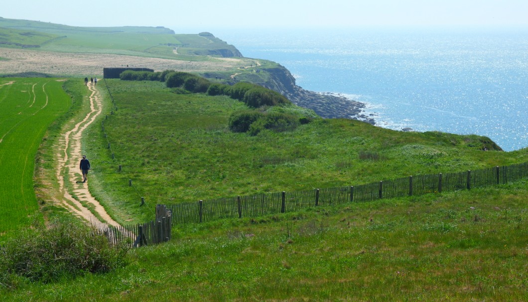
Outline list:
[[[528,26],[527,0],[7,0],[4,18],[74,26]],[[178,31],[180,29],[180,31]]]

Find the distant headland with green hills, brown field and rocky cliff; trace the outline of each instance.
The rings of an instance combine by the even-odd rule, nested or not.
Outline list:
[[[0,57],[5,61],[0,74],[101,77],[103,67],[174,69],[222,83],[256,83],[323,118],[375,123],[360,117],[364,104],[304,90],[284,66],[243,58],[237,48],[211,33],[174,34],[164,27],[75,27],[0,17],[0,46],[10,47],[0,47]],[[65,61],[68,64],[63,64]]]

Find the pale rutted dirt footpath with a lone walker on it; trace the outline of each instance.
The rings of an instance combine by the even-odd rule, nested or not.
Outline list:
[[[90,174],[88,175],[88,182],[82,181],[82,174],[79,170],[79,161],[81,160],[81,137],[86,128],[93,123],[97,116],[102,111],[102,100],[96,86],[88,86],[91,91],[90,94],[90,112],[84,119],[78,122],[73,129],[62,134],[60,139],[60,150],[56,154],[58,158],[58,165],[56,167],[56,176],[59,180],[59,187],[63,200],[61,205],[67,208],[74,215],[82,217],[89,221],[92,225],[99,229],[104,229],[108,225],[119,226],[119,223],[114,221],[105,208],[91,196],[88,190],[88,183]],[[67,181],[67,183],[65,183]],[[71,192],[73,188],[73,192]],[[87,207],[92,208],[94,215]],[[97,217],[100,217],[98,219]]]

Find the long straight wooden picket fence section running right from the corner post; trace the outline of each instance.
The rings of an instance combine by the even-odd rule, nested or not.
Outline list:
[[[369,202],[431,192],[469,190],[528,177],[528,162],[464,172],[425,174],[337,188],[274,192],[168,205],[172,223],[202,223],[219,219],[259,217],[309,207]]]

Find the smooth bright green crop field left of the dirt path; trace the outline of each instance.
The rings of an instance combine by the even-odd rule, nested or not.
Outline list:
[[[70,108],[62,84],[0,79],[0,233],[41,219],[33,190],[35,154],[48,126]]]

